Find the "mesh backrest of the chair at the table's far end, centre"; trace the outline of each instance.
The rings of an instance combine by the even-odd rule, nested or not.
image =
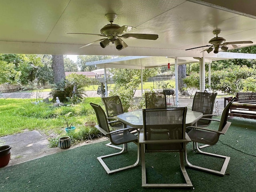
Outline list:
[[[146,108],[166,108],[166,92],[145,93]]]

